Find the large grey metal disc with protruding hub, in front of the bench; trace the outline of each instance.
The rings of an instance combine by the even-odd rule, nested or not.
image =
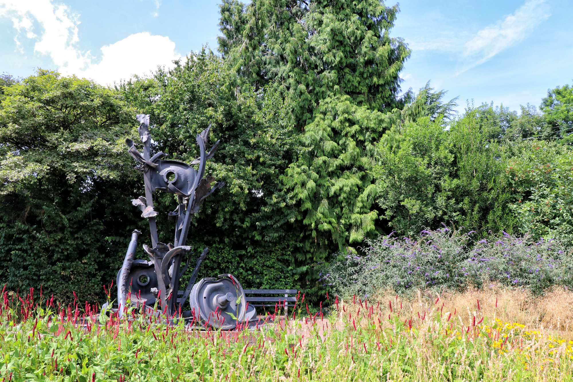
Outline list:
[[[230,274],[201,279],[189,297],[191,310],[201,325],[225,330],[233,329],[245,318],[245,300],[241,283]]]

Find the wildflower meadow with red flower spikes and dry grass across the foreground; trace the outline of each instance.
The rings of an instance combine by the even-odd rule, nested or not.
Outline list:
[[[570,297],[570,292],[563,296]],[[453,295],[456,296],[456,295]],[[572,380],[570,323],[506,321],[504,291],[370,302],[328,296],[312,313],[260,315],[230,332],[131,309],[119,319],[79,301],[6,291],[2,381]],[[564,301],[561,301],[563,303]],[[460,303],[466,305],[461,307]],[[277,307],[280,308],[280,307]],[[523,321],[523,320],[522,320]],[[163,323],[162,323],[163,322]],[[556,330],[555,330],[556,329]]]

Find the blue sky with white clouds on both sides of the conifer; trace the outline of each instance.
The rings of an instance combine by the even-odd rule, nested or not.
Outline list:
[[[0,0],[0,72],[57,69],[113,84],[201,49],[217,48],[218,1]],[[387,2],[387,5],[393,3]],[[413,53],[403,89],[426,81],[475,104],[539,105],[573,81],[573,2],[400,3],[391,34]]]

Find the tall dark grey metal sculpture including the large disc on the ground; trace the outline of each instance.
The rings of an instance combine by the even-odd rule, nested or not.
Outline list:
[[[205,278],[195,284],[209,248],[205,248],[197,259],[183,296],[178,298],[179,280],[187,271],[193,256],[191,247],[185,245],[191,214],[199,212],[203,200],[225,185],[223,182],[215,182],[211,176],[203,178],[205,164],[217,151],[219,141],[207,153],[207,137],[211,125],[197,135],[201,155],[191,165],[198,165],[198,170],[185,162],[162,160],[166,156],[162,152],[151,156],[149,117],[145,114],[137,115],[143,154],[136,149],[133,141],[127,139],[125,143],[129,147],[128,153],[139,162],[138,169],[143,171],[145,196],[132,200],[132,203],[141,209],[142,217],[149,221],[151,247],[143,244],[143,249],[150,261],[134,260],[140,234],[134,231],[123,266],[117,274],[119,315],[121,317],[128,306],[144,307],[149,312],[156,303],[160,303],[162,312],[170,319],[194,318],[199,324],[233,329],[237,322],[252,317],[254,310],[247,312],[241,284],[231,275]],[[178,206],[168,216],[168,219],[176,220],[173,244],[158,241],[155,222],[158,213],[154,210],[152,198],[156,190],[177,195]],[[186,265],[180,269],[183,259],[186,259]],[[182,311],[187,298],[190,298],[191,310]]]

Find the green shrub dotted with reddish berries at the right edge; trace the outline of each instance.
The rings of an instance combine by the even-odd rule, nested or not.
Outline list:
[[[568,145],[524,141],[506,173],[515,190],[511,209],[523,232],[573,243],[573,152]]]

